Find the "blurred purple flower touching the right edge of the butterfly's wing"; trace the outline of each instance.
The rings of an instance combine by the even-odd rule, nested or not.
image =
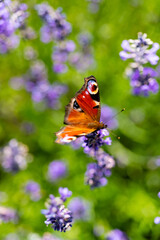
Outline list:
[[[102,105],[100,122],[106,124],[108,128],[116,129],[118,127],[118,121],[114,118],[115,115],[116,111],[113,108]]]

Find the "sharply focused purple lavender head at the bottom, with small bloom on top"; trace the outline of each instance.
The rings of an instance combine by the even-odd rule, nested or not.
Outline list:
[[[72,213],[65,208],[63,203],[67,197],[71,196],[72,192],[67,188],[60,188],[59,192],[61,197],[49,196],[50,198],[46,203],[47,209],[42,210],[42,214],[47,218],[45,221],[47,226],[51,224],[55,231],[66,232],[66,230],[72,227]]]

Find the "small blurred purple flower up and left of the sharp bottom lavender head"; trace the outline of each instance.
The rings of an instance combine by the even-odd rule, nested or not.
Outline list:
[[[33,201],[38,201],[41,198],[40,185],[37,182],[28,181],[25,185],[25,192],[30,195]]]

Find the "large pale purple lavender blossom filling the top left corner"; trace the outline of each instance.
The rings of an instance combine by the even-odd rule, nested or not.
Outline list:
[[[0,2],[0,53],[5,54],[19,45],[17,29],[24,28],[28,17],[27,5],[17,1],[4,0]]]

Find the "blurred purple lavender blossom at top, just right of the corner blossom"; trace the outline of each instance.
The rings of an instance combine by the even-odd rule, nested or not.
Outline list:
[[[66,21],[62,9],[54,10],[47,3],[37,4],[35,9],[38,15],[44,21],[41,28],[41,41],[48,43],[53,40],[64,40],[70,34],[72,28],[69,22]]]

